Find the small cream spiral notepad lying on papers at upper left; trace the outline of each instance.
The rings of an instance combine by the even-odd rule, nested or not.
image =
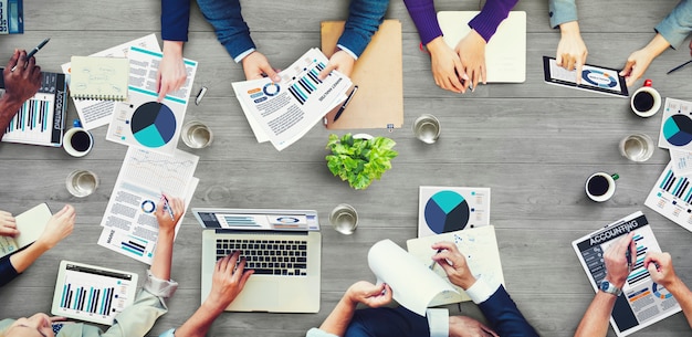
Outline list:
[[[72,56],[70,75],[71,97],[127,99],[129,60],[126,57]]]

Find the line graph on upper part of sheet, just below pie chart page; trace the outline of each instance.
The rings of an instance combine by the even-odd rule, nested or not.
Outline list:
[[[198,161],[199,157],[181,150],[176,150],[174,156],[166,156],[130,147],[120,175],[135,185],[182,197]]]

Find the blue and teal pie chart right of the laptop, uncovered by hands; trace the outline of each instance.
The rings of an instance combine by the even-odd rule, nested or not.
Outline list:
[[[424,217],[434,233],[463,230],[469,223],[469,203],[459,193],[443,190],[434,193],[426,203]]]

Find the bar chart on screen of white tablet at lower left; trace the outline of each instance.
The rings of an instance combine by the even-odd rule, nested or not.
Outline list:
[[[60,307],[94,318],[113,317],[130,299],[127,289],[132,283],[128,274],[67,264],[62,289],[56,289],[61,294]]]

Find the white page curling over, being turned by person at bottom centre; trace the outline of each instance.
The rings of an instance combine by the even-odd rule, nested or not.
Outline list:
[[[457,293],[449,283],[391,240],[379,241],[370,248],[368,265],[378,284],[391,286],[395,301],[420,316],[426,315],[431,301],[439,294]]]

